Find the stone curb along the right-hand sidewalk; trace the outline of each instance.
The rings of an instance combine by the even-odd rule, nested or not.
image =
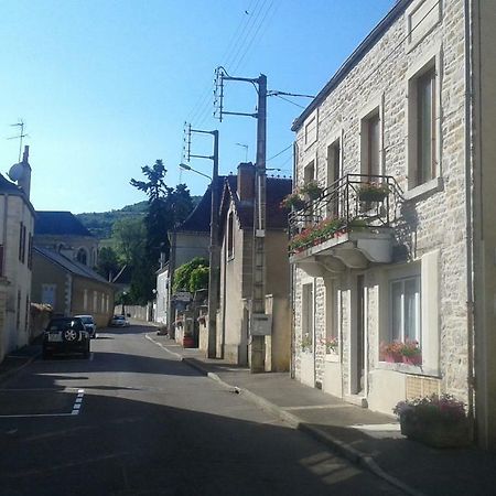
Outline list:
[[[185,358],[184,356],[180,355],[179,353],[171,352],[166,349],[165,346],[163,346],[161,343],[155,342],[153,338],[149,337],[147,335],[147,338],[159,345],[161,348],[165,349],[168,353],[176,356],[181,362],[187,364],[190,367],[198,370],[204,376],[219,382],[226,388],[229,389],[237,389],[239,393],[245,396],[249,401],[258,405],[261,409],[269,411],[270,413],[276,414],[280,419],[282,419],[284,422],[289,423],[294,429],[298,429],[301,432],[304,432],[315,440],[323,442],[326,444],[334,453],[337,455],[341,455],[348,460],[349,462],[368,470],[373,474],[375,474],[377,477],[386,481],[390,485],[397,487],[398,489],[401,489],[405,494],[408,494],[410,496],[424,496],[424,494],[418,489],[414,489],[413,487],[410,487],[409,485],[405,484],[399,478],[389,475],[387,472],[385,472],[374,460],[374,456],[367,455],[365,453],[362,453],[360,451],[356,450],[352,445],[339,441],[338,439],[334,438],[333,435],[328,434],[327,432],[324,432],[322,429],[315,428],[313,425],[310,425],[305,422],[303,422],[300,418],[296,416],[289,413],[284,411],[281,407],[266,400],[265,398],[261,398],[260,396],[249,391],[248,389],[239,388],[237,386],[233,386],[230,384],[227,384],[217,374],[208,371],[201,362],[198,362],[195,358]]]

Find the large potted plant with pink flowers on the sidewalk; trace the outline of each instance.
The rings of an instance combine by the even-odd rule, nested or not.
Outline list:
[[[471,422],[465,406],[451,395],[432,395],[399,401],[392,409],[401,433],[434,448],[465,446],[471,442]]]

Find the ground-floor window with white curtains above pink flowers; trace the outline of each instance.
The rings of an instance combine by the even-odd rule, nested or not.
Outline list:
[[[421,341],[420,276],[390,282],[390,337]]]

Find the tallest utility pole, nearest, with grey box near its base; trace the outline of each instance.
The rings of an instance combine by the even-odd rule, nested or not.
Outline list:
[[[255,165],[254,202],[254,254],[252,288],[250,305],[250,348],[249,363],[251,373],[265,371],[265,336],[270,335],[271,321],[266,312],[266,141],[267,141],[267,76],[258,78],[233,77],[224,67],[216,69],[216,104],[218,118],[223,115],[248,116],[257,119],[257,162]],[[256,85],[258,106],[256,114],[230,112],[223,108],[224,80],[244,82]]]

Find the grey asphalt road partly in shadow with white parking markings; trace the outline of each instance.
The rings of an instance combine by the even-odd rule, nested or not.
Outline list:
[[[37,359],[0,389],[0,494],[396,495],[145,338]]]

